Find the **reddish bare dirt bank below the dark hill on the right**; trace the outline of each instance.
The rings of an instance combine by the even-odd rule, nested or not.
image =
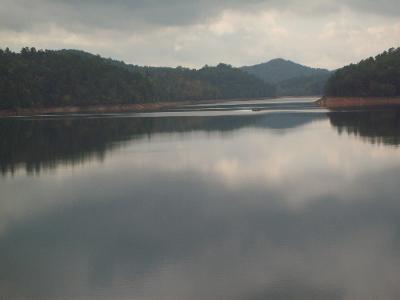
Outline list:
[[[370,106],[400,106],[400,97],[324,97],[317,101],[317,104],[330,109],[359,108]]]

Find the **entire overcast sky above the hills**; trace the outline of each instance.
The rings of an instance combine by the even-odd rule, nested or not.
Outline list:
[[[0,0],[0,46],[139,65],[334,69],[400,46],[399,0]]]

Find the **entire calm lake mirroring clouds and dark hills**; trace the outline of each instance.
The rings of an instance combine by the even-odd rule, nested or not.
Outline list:
[[[0,119],[1,299],[399,299],[400,110]]]

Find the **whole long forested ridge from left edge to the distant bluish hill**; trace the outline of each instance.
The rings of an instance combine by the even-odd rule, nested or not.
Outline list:
[[[273,85],[224,64],[153,68],[77,50],[0,50],[0,109],[273,96]]]

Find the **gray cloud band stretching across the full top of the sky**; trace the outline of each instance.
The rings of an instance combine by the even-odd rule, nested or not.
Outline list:
[[[2,29],[29,29],[37,25],[57,24],[72,29],[119,28],[138,30],[163,26],[185,26],[206,22],[224,10],[290,11],[320,15],[351,8],[373,14],[399,15],[397,0],[1,0]]]

